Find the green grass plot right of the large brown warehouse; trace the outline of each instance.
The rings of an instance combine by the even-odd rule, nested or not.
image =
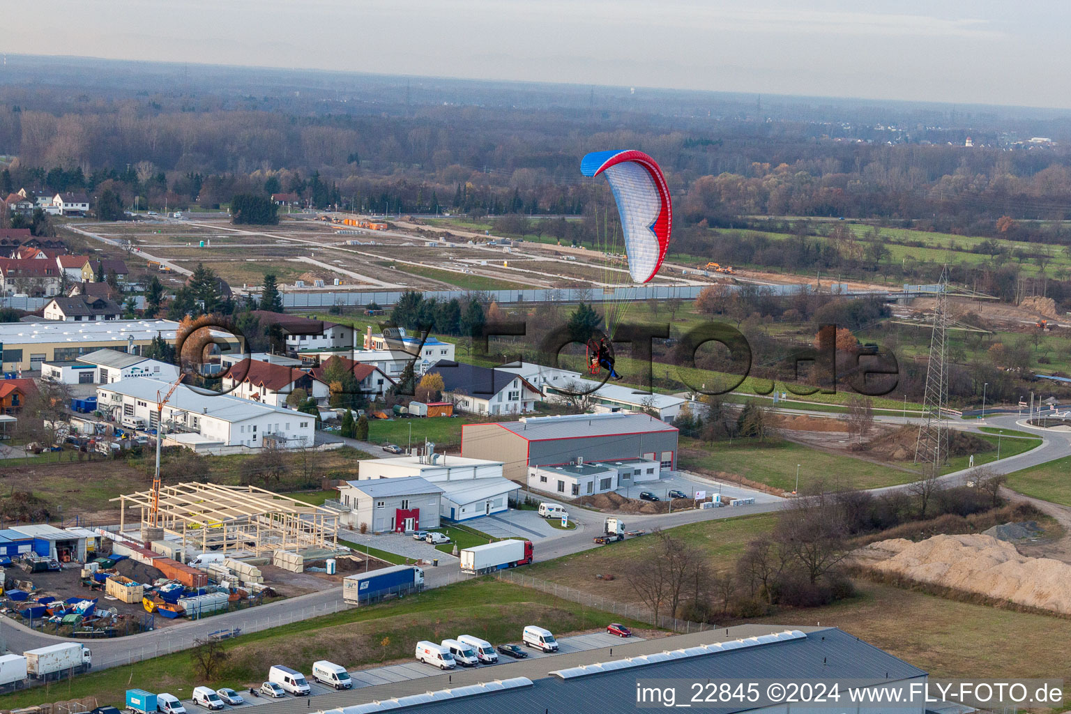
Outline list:
[[[912,471],[895,469],[851,456],[830,454],[781,439],[758,442],[734,439],[704,444],[682,437],[679,466],[684,470],[725,472],[778,489],[796,487],[796,465],[800,465],[800,489],[824,481],[829,488],[878,488],[915,481]],[[731,475],[727,478],[731,481]]]

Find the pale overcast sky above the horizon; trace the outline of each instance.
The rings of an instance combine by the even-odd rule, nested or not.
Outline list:
[[[1071,107],[1071,2],[1062,0],[31,5],[4,15],[4,51]]]

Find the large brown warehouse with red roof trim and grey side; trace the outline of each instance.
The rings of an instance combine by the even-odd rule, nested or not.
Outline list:
[[[466,424],[462,456],[502,461],[502,475],[518,483],[530,466],[585,461],[658,461],[677,468],[678,429],[647,414],[529,416],[516,422]]]

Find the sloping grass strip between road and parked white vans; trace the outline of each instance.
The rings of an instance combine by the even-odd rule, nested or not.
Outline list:
[[[188,698],[195,685],[224,686],[242,692],[259,685],[280,653],[287,664],[310,671],[312,663],[329,659],[347,668],[412,659],[412,643],[468,633],[492,642],[518,641],[525,625],[538,622],[556,635],[601,629],[619,620],[607,612],[555,598],[491,578],[436,588],[402,601],[355,608],[334,614],[242,635],[226,641],[227,659],[218,674],[206,681],[190,651],[126,667],[90,672],[48,688],[34,687],[0,697],[0,707],[15,709],[86,696],[101,705],[124,705],[124,690],[139,687]],[[625,621],[630,626],[636,623]],[[644,625],[639,625],[644,626]]]

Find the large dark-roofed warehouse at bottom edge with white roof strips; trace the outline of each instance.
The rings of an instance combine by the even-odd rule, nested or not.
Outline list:
[[[585,638],[574,641],[579,639]],[[951,702],[927,703],[922,698],[927,681],[925,671],[833,627],[783,629],[774,625],[738,625],[612,644],[609,653],[605,645],[579,651],[562,648],[561,653],[549,657],[503,660],[494,667],[457,668],[449,673],[389,683],[379,678],[372,680],[371,674],[376,670],[371,670],[368,680],[362,679],[363,672],[356,672],[355,679],[365,686],[357,685],[313,701],[323,700],[317,703],[323,714],[617,713],[666,711],[684,705],[716,714],[972,711]],[[776,688],[771,690],[773,699],[765,697],[771,682],[819,681],[840,685],[840,705],[828,702],[788,707],[776,701]],[[739,682],[761,682],[756,690],[763,699],[754,701],[751,699],[754,695],[745,692],[745,697],[729,697],[728,701],[713,698],[704,701],[712,690],[713,697],[718,697],[719,690],[707,685],[719,682],[729,682],[731,686]],[[742,689],[746,690],[746,686]],[[860,707],[848,701],[845,692],[848,686],[866,690],[855,699],[897,703]],[[666,687],[674,689],[672,701]],[[704,707],[692,702],[697,694]],[[911,694],[914,701],[908,700],[907,695]],[[784,695],[780,697],[783,699]],[[643,701],[637,701],[639,698]]]

